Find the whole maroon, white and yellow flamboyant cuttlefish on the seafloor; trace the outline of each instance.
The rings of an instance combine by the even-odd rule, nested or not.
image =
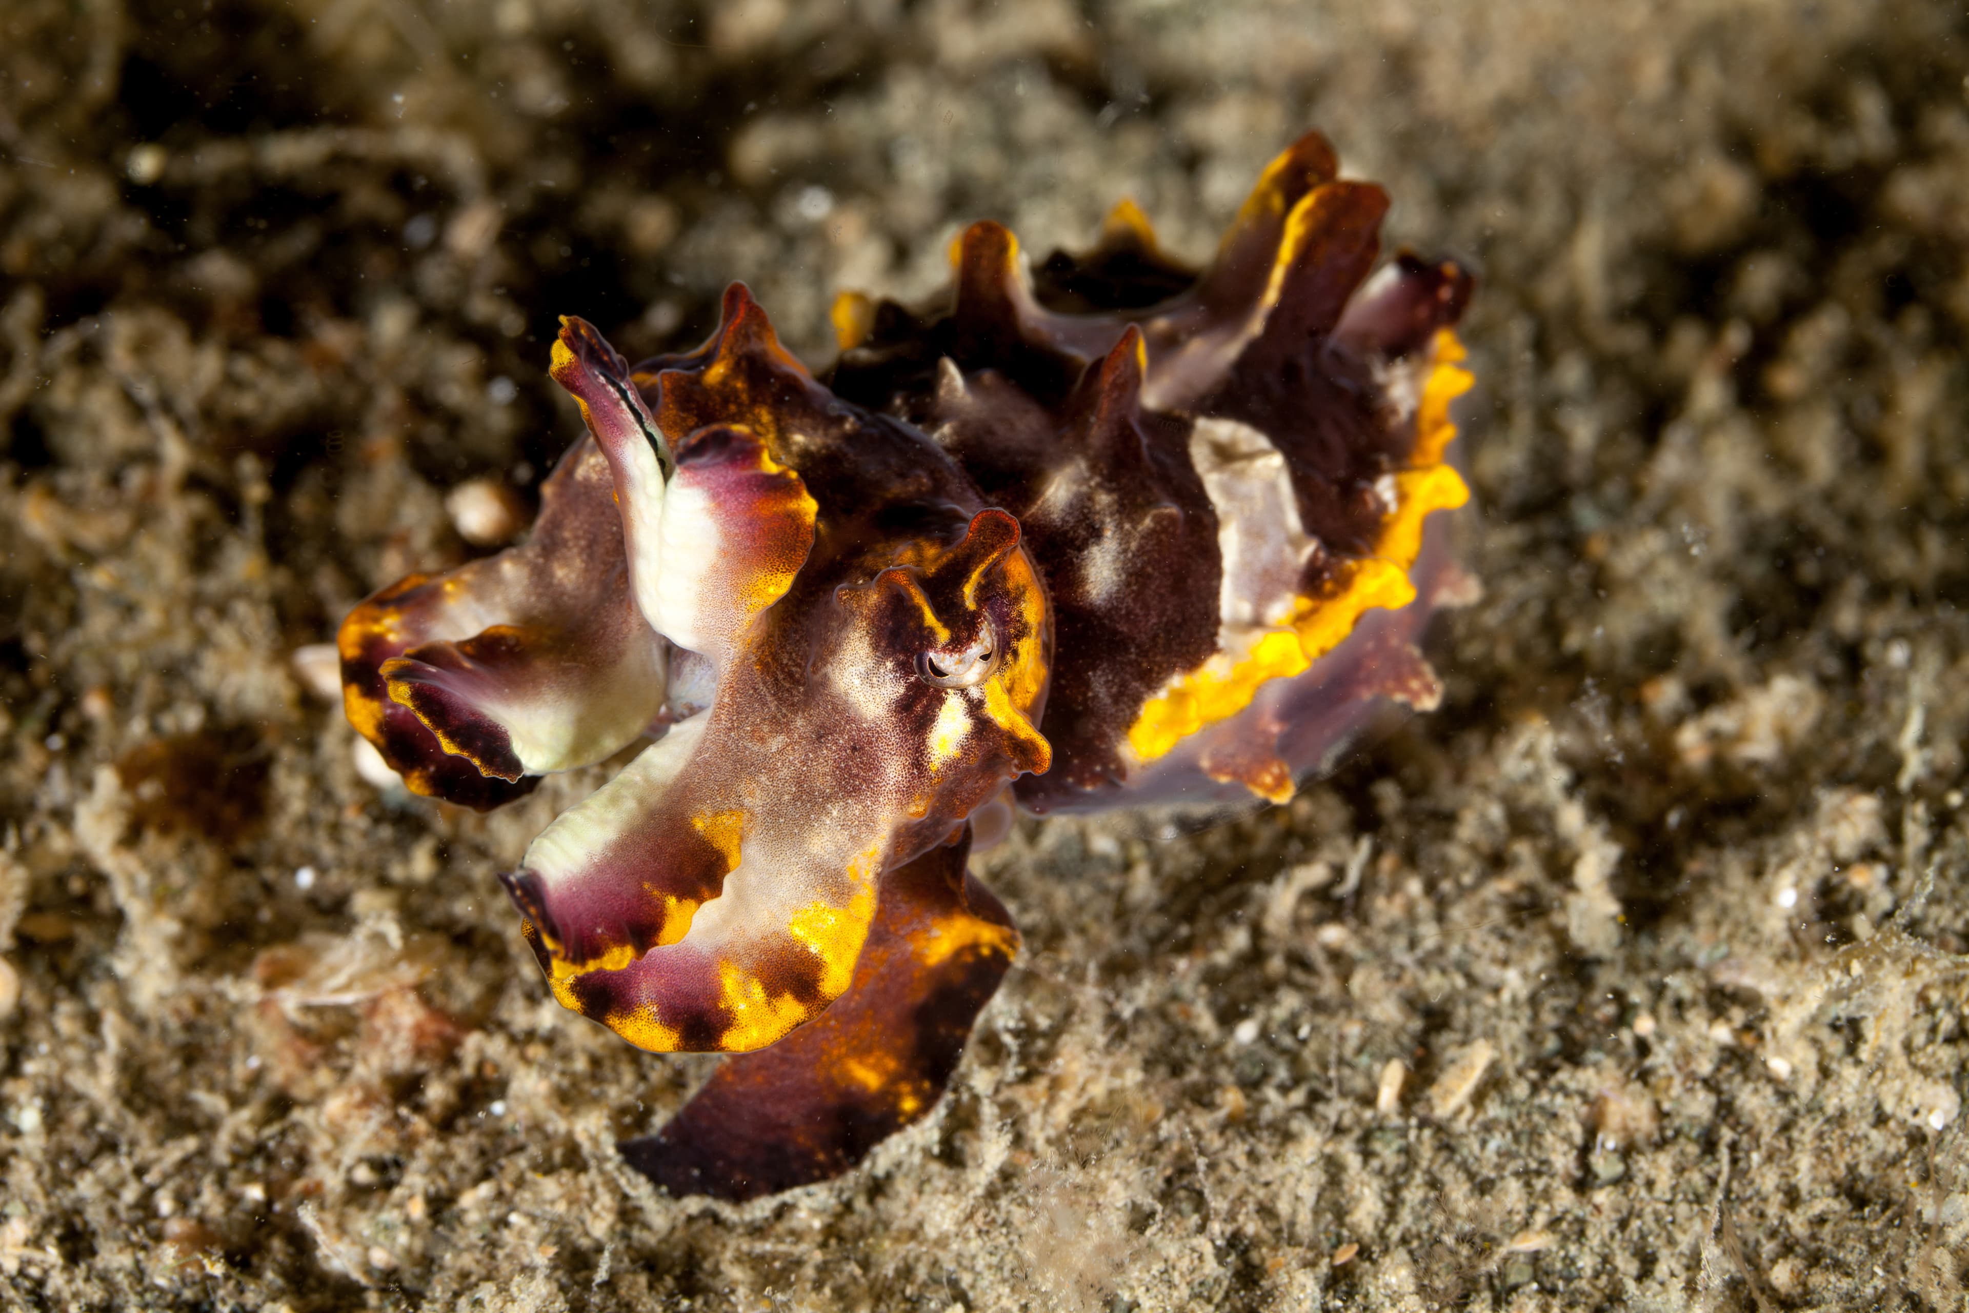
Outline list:
[[[1386,207],[1307,136],[1201,274],[1130,203],[1038,272],[979,222],[933,303],[843,295],[821,376],[736,283],[638,366],[563,321],[589,435],[528,541],[339,646],[417,793],[488,809],[654,736],[504,878],[565,1006],[742,1055],[630,1163],[746,1199],[937,1100],[1018,945],[973,819],[1280,801],[1374,699],[1433,705],[1471,280],[1370,278]]]

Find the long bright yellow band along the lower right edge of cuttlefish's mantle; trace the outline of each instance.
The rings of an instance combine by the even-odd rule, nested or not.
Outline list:
[[[1473,376],[1461,368],[1463,344],[1449,329],[1435,335],[1433,352],[1422,404],[1416,409],[1418,467],[1396,474],[1398,504],[1382,524],[1374,555],[1353,563],[1337,594],[1294,598],[1292,628],[1272,630],[1244,659],[1233,661],[1217,654],[1197,669],[1177,675],[1164,693],[1144,703],[1128,726],[1128,748],[1138,762],[1168,756],[1197,730],[1239,715],[1250,707],[1266,681],[1305,673],[1313,661],[1353,634],[1365,612],[1400,610],[1416,600],[1408,569],[1422,553],[1424,520],[1431,512],[1455,510],[1469,500],[1463,476],[1441,465],[1441,457],[1457,435],[1449,404],[1469,392]],[[1290,797],[1290,791],[1286,795]]]

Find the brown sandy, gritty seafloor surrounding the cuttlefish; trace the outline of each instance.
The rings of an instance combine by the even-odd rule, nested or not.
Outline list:
[[[1969,47],[1900,0],[6,0],[0,1305],[1959,1309]],[[1323,128],[1483,274],[1447,697],[1191,837],[1028,823],[951,1096],[673,1201],[293,654],[727,280],[1201,258]],[[1390,1063],[1406,1073],[1388,1081]]]

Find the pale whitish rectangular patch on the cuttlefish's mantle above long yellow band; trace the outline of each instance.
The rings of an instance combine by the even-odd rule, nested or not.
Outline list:
[[[1239,638],[1292,618],[1300,575],[1319,543],[1300,524],[1284,453],[1258,429],[1235,419],[1199,419],[1189,459],[1217,508],[1225,569],[1217,646],[1237,652]]]

